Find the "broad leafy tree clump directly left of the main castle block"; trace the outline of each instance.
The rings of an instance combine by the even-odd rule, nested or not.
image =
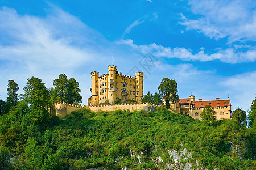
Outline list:
[[[65,74],[60,74],[58,79],[53,81],[51,88],[51,101],[52,102],[65,102],[69,104],[81,103],[82,96],[79,88],[79,83],[74,78],[67,79]]]

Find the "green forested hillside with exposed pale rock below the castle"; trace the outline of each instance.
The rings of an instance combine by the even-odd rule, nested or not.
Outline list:
[[[20,101],[0,116],[6,169],[253,169],[255,129],[155,112],[75,111],[40,124]],[[34,122],[35,121],[35,122]]]

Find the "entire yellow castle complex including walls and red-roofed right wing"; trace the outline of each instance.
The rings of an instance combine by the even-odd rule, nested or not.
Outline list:
[[[87,108],[93,112],[97,111],[115,111],[118,109],[129,111],[155,111],[159,105],[152,103],[141,103],[143,98],[143,72],[135,73],[135,77],[118,73],[116,66],[108,66],[108,74],[102,74],[93,71],[91,73],[92,87],[90,91],[92,96],[88,99],[88,105],[76,106],[66,103],[54,103],[55,110],[51,111],[53,115],[64,118],[72,111],[77,109]],[[114,101],[119,98],[122,102],[134,101],[132,104],[114,104]],[[195,96],[179,99],[175,102],[170,101],[170,109],[179,114],[187,114],[192,118],[202,120],[201,113],[206,105],[210,105],[216,111],[217,120],[231,118],[231,103],[228,100],[195,101]],[[106,104],[104,104],[106,103]],[[164,102],[163,102],[164,104]]]

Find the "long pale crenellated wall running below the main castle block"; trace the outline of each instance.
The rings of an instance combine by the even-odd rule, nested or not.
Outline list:
[[[96,105],[89,106],[89,109],[93,112],[98,111],[115,111],[115,110],[128,110],[129,111],[155,111],[159,107],[152,103],[137,103],[137,104],[108,104],[108,105]]]

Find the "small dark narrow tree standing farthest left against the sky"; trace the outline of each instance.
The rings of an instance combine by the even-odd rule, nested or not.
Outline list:
[[[14,80],[9,80],[9,83],[7,85],[7,100],[6,103],[8,103],[11,107],[16,105],[19,101],[18,98],[18,84],[14,82]]]

